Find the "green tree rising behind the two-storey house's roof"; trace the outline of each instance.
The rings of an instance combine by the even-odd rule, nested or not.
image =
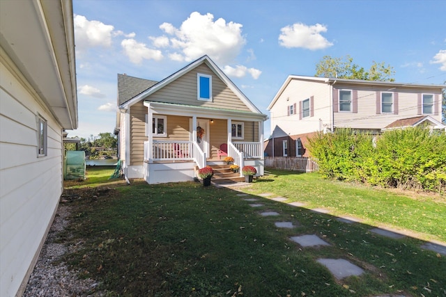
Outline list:
[[[337,77],[339,79],[362,79],[365,81],[394,81],[393,67],[384,62],[373,61],[369,71],[353,63],[349,55],[345,57],[323,56],[316,64],[315,77]]]

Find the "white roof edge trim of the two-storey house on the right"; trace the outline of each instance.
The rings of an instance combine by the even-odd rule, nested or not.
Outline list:
[[[393,81],[364,81],[361,79],[337,79],[334,77],[307,77],[302,75],[289,75],[282,86],[277,91],[276,95],[272,98],[270,105],[268,105],[268,111],[272,109],[272,106],[277,102],[282,92],[285,90],[286,86],[292,81],[300,80],[300,81],[314,81],[318,83],[327,83],[328,85],[334,85],[335,83],[351,83],[351,84],[359,84],[362,86],[379,86],[385,88],[421,88],[426,90],[438,90],[441,91],[443,88],[446,88],[446,85],[422,85],[415,83],[396,83]]]

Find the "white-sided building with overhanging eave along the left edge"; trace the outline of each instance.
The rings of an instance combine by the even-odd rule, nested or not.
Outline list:
[[[0,1],[0,296],[22,296],[77,129],[72,1]]]

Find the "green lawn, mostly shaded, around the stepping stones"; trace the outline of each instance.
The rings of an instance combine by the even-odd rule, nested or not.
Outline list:
[[[90,170],[92,177],[95,170]],[[107,182],[102,185],[110,187]],[[392,195],[402,204],[408,204],[408,200],[418,203],[420,209],[426,202],[442,209],[441,202],[419,201],[389,191],[325,181],[318,175],[289,172],[257,179],[244,188],[249,193],[246,197],[228,188],[203,188],[193,182],[133,182],[130,186],[115,184],[107,191],[89,187],[95,184],[87,180],[83,189],[73,190],[84,191],[84,195],[72,202],[70,225],[60,240],[72,246],[82,242],[65,260],[82,277],[98,280],[98,289],[107,291],[107,296],[446,294],[446,259],[421,250],[420,239],[387,239],[371,234],[367,224],[341,223],[333,216],[256,194],[271,192],[289,201],[305,201],[334,211],[353,209],[347,206],[353,204],[350,200],[385,200]],[[71,184],[70,188],[75,186]],[[302,193],[305,191],[307,194]],[[93,193],[100,195],[96,199]],[[312,198],[314,195],[318,199]],[[243,198],[258,198],[264,206],[249,207],[252,202]],[[337,204],[342,206],[334,207]],[[369,204],[361,205],[354,214],[371,216]],[[267,210],[281,215],[259,215]],[[430,216],[431,210],[426,214]],[[380,216],[381,223],[392,224],[384,218],[387,216]],[[282,220],[292,221],[296,227],[275,227],[275,221]],[[417,223],[423,225],[424,220],[426,216],[420,216]],[[440,236],[441,232],[435,230],[443,227],[433,228],[426,236]],[[301,248],[289,240],[299,234],[318,234],[331,246]],[[321,257],[348,259],[366,273],[335,280],[316,263]]]

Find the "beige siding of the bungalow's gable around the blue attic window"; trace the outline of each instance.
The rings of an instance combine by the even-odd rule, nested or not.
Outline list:
[[[212,76],[213,102],[204,102],[197,99],[197,73]],[[194,68],[194,70],[187,72],[182,77],[179,77],[145,99],[155,102],[249,111],[249,108],[215,75],[212,70],[210,70],[206,64],[199,65]]]

